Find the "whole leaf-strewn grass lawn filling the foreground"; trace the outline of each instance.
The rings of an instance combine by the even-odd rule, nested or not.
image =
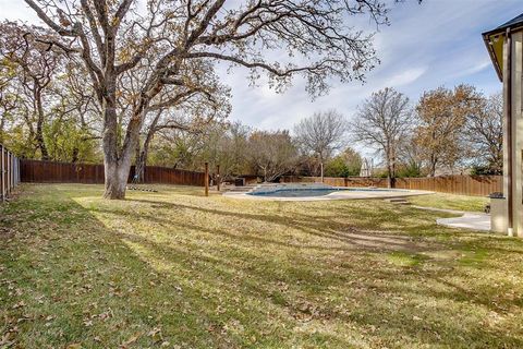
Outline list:
[[[522,240],[382,201],[158,189],[0,205],[0,348],[523,347]]]

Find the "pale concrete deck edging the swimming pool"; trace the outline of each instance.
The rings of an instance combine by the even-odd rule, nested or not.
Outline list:
[[[361,191],[357,191],[357,188],[348,188],[351,190],[339,191],[330,193],[323,196],[301,196],[301,197],[276,197],[276,196],[263,196],[263,195],[250,195],[247,193],[234,193],[226,192],[222,195],[233,198],[243,198],[243,200],[265,200],[265,201],[329,201],[329,200],[385,200],[385,198],[400,198],[417,195],[428,195],[434,194],[429,191],[421,190],[396,190],[388,191],[376,190],[370,191],[368,189],[362,188]]]

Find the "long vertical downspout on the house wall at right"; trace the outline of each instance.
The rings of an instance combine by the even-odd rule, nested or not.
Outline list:
[[[510,28],[506,32],[507,38],[507,153],[509,154],[508,169],[507,169],[507,186],[508,186],[508,234],[513,236],[514,228],[514,195],[513,195],[513,156],[512,156],[512,37]]]

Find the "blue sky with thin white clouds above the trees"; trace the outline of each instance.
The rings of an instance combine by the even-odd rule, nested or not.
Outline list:
[[[37,22],[22,0],[0,0],[0,17]],[[481,33],[523,12],[522,0],[405,0],[391,5],[391,24],[380,26],[375,48],[381,63],[367,74],[366,83],[332,82],[326,96],[312,100],[304,84],[294,80],[283,94],[264,80],[250,86],[244,69],[219,73],[232,88],[231,120],[260,130],[291,129],[315,111],[337,109],[351,120],[357,106],[373,92],[393,87],[415,104],[424,91],[472,84],[485,94],[501,91]],[[376,29],[368,19],[354,25]]]

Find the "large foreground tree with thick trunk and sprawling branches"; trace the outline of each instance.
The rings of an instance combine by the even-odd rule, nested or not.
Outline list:
[[[377,62],[372,36],[352,31],[349,16],[370,14],[386,21],[379,0],[258,0],[226,7],[224,0],[25,0],[61,39],[42,39],[80,56],[88,71],[104,117],[105,197],[123,198],[139,131],[150,101],[180,76],[190,60],[223,61],[265,71],[276,88],[302,74],[307,91],[320,94],[328,77],[364,80]],[[289,62],[266,59],[287,49]],[[121,103],[119,81],[148,58],[154,70],[143,74],[133,101]],[[306,62],[304,65],[294,62]],[[122,113],[121,106],[132,106]],[[126,118],[119,124],[119,120]],[[119,125],[125,125],[123,141]]]

